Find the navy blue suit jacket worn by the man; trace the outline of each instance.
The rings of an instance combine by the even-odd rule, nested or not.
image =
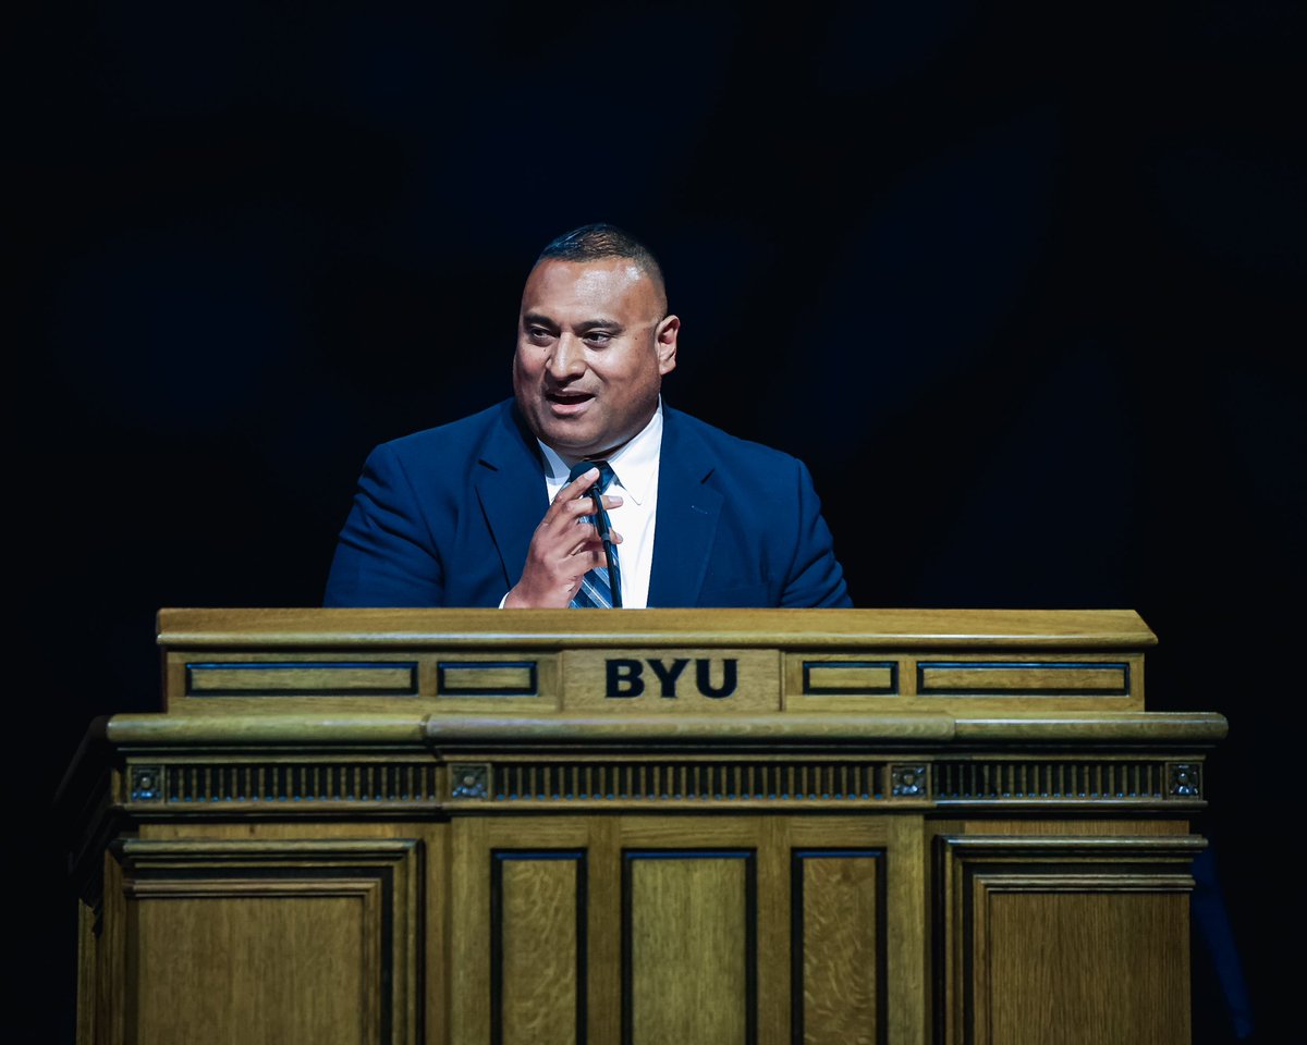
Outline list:
[[[545,511],[535,436],[506,400],[369,456],[328,606],[498,606]],[[663,408],[650,606],[850,606],[808,469]]]

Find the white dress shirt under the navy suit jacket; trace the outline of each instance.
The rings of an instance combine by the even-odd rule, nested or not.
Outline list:
[[[536,440],[537,443],[540,440]],[[654,525],[657,521],[657,465],[663,449],[663,401],[650,423],[622,447],[608,464],[613,482],[605,494],[617,494],[622,503],[608,512],[613,529],[622,536],[616,545],[622,575],[622,606],[642,610],[650,601],[650,575],[654,570]],[[549,500],[567,485],[567,473],[578,457],[567,458],[540,443],[545,458],[545,485]],[[503,605],[501,602],[501,605]]]

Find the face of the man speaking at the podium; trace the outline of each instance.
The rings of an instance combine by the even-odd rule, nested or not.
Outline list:
[[[512,391],[536,436],[566,457],[599,457],[637,435],[676,367],[681,321],[622,257],[546,260],[521,293]]]

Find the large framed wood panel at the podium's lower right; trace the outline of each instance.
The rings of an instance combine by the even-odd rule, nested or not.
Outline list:
[[[1188,1045],[1201,839],[1059,828],[936,839],[941,1040]]]

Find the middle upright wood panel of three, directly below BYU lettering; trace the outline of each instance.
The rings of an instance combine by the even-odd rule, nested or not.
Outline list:
[[[757,1040],[752,850],[623,853],[622,1040]]]

